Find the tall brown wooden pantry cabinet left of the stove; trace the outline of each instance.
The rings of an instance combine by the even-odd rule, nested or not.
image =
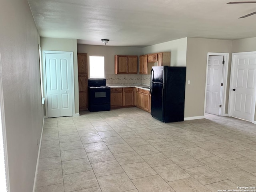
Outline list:
[[[78,87],[79,87],[79,110],[88,110],[88,72],[87,53],[77,54],[78,62]]]

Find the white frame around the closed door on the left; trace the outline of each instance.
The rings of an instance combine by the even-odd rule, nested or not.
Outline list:
[[[48,50],[43,50],[43,76],[44,76],[44,97],[45,97],[45,118],[48,118],[48,104],[47,104],[47,87],[46,87],[46,60],[45,60],[45,55],[47,53],[50,54],[70,54],[71,56],[71,79],[72,79],[72,114],[75,116],[75,92],[74,92],[74,57],[73,57],[73,52],[72,51],[48,51]]]

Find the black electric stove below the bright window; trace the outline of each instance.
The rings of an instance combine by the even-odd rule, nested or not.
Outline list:
[[[88,110],[110,110],[110,87],[106,86],[106,79],[88,79]]]

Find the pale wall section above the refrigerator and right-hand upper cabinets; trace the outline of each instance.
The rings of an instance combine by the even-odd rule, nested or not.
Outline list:
[[[168,41],[143,48],[143,54],[171,52],[171,66],[186,66],[187,38]]]

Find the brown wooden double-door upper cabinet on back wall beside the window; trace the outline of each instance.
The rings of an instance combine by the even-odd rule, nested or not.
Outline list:
[[[115,55],[115,74],[137,74],[138,56]]]

